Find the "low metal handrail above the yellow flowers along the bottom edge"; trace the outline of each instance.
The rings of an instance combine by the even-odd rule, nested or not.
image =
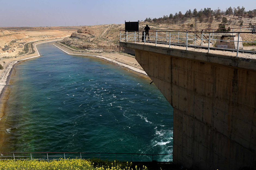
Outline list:
[[[41,156],[38,155],[33,155],[33,154],[44,154]],[[75,159],[82,159],[82,157],[99,157],[99,159],[103,158],[103,157],[107,157],[107,158],[115,158],[115,159],[106,159],[106,160],[118,160],[118,161],[138,161],[138,162],[143,162],[143,161],[153,161],[153,156],[157,156],[157,155],[172,155],[172,153],[166,153],[166,154],[140,154],[140,153],[103,153],[103,152],[2,152],[0,153],[0,158],[4,157],[5,159],[0,159],[0,160],[47,160],[47,162],[51,161],[51,160],[62,160],[63,158],[66,159],[67,156],[65,154],[79,154],[79,155],[70,155],[70,157],[75,157]],[[11,154],[11,156],[4,156],[3,154]],[[16,156],[14,155],[16,154]],[[29,155],[22,155],[19,156],[19,154],[29,154]],[[59,155],[54,155],[54,154],[59,154]],[[60,155],[63,154],[63,155]],[[82,155],[83,154],[83,155]],[[87,155],[84,155],[87,154]],[[88,155],[88,154],[99,154],[99,155]],[[100,154],[115,154],[115,156],[104,156],[104,155],[100,155]],[[123,155],[123,156],[117,156],[117,154],[119,155]],[[127,156],[130,155],[130,156]],[[144,157],[135,157],[133,155],[142,155]],[[147,156],[147,157],[145,157]],[[11,159],[6,159],[8,157],[11,157]],[[40,158],[36,158],[35,157],[40,157]],[[42,159],[42,158],[45,159]],[[53,157],[57,157],[57,158],[53,158]],[[19,158],[19,159],[17,159]],[[22,159],[23,158],[23,159]],[[26,159],[24,159],[26,158]],[[34,158],[34,159],[33,159]],[[117,159],[118,158],[118,159]],[[119,158],[125,158],[124,159],[119,159]],[[126,159],[126,158],[130,158],[130,159]],[[140,158],[140,159],[134,159],[134,158]],[[72,159],[70,159],[72,160]]]

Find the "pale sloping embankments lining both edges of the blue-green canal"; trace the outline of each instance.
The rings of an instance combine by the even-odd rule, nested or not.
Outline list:
[[[2,75],[0,77],[0,120],[4,117],[4,108],[5,108],[5,103],[9,97],[9,90],[8,93],[5,92],[5,89],[9,82],[10,76],[11,76],[11,72],[14,68],[14,65],[16,63],[18,63],[19,61],[23,61],[23,60],[27,60],[27,59],[32,59],[35,57],[39,57],[41,56],[36,48],[37,44],[41,44],[41,43],[47,43],[47,42],[54,42],[54,41],[59,41],[61,39],[58,40],[45,40],[45,41],[39,41],[35,44],[33,44],[33,47],[35,49],[35,53],[34,54],[28,54],[28,55],[24,55],[23,57],[20,57],[20,59],[17,59],[16,57],[11,58],[11,61],[9,59],[3,59],[3,61],[5,61],[5,63],[3,64],[4,69],[1,70]],[[101,59],[104,60],[108,60],[114,64],[123,66],[125,68],[127,68],[128,70],[130,69],[132,72],[134,72],[136,75],[139,76],[143,76],[146,79],[150,79],[146,72],[141,68],[141,66],[138,64],[138,62],[135,60],[135,58],[133,57],[129,57],[126,55],[122,55],[122,54],[118,54],[118,53],[100,53],[102,55],[94,55],[93,52],[87,52],[89,54],[83,54],[82,52],[77,52],[77,51],[71,51],[66,47],[60,46],[57,43],[53,44],[54,46],[56,46],[57,48],[59,48],[60,50],[62,50],[63,52],[67,53],[67,54],[71,54],[71,55],[82,55],[82,56],[94,56],[94,57],[99,57]],[[72,53],[70,53],[72,52]],[[97,53],[99,54],[99,53]],[[1,73],[0,72],[0,73]]]

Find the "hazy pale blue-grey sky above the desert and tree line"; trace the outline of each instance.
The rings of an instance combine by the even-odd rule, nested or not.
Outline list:
[[[121,24],[124,21],[159,18],[163,15],[188,9],[201,8],[225,10],[228,7],[256,9],[255,0],[225,1],[157,1],[157,0],[0,0],[0,27],[4,26],[67,26]]]

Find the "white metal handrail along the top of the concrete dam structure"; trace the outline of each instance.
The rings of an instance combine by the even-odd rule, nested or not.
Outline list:
[[[145,34],[144,35],[142,34],[145,30],[129,31],[129,32],[133,32],[133,33],[129,33],[129,34],[128,34],[128,31],[125,31],[124,34],[121,34],[121,31],[125,31],[125,30],[120,30],[120,41],[124,40],[126,42],[131,41],[131,42],[136,43],[136,41],[137,41],[137,43],[138,42],[144,42],[144,44],[146,42],[147,43],[155,43],[155,46],[157,46],[157,44],[166,44],[166,45],[169,44],[169,48],[170,48],[170,45],[179,45],[179,46],[185,46],[186,50],[187,50],[188,47],[202,47],[202,48],[207,48],[208,53],[209,53],[210,49],[236,51],[236,53],[237,53],[236,57],[238,57],[239,52],[248,52],[248,53],[255,53],[256,52],[256,50],[242,50],[242,49],[239,49],[239,43],[240,42],[241,43],[243,43],[243,42],[256,43],[255,41],[240,41],[240,38],[239,38],[240,33],[248,33],[248,32],[214,32],[214,31],[213,32],[204,32],[204,31],[193,31],[193,32],[191,32],[191,31],[184,31],[184,30],[182,30],[182,31],[180,31],[180,30],[179,31],[167,31],[167,30],[153,31],[153,30],[150,30],[149,32],[150,32],[151,36],[148,36],[148,37],[153,38],[153,41],[152,41],[152,40],[146,40],[147,36],[145,36]],[[163,32],[165,32],[165,33],[163,33]],[[173,34],[171,34],[171,33],[173,33]],[[176,33],[176,34],[174,34],[174,33]],[[186,34],[180,34],[180,33],[186,33]],[[193,33],[195,35],[190,35],[191,33]],[[199,37],[196,33],[201,33],[201,37]],[[232,34],[232,36],[233,36],[234,33],[238,34],[237,40],[223,40],[223,41],[236,42],[237,43],[237,49],[210,47],[210,43],[213,43],[213,41],[221,41],[221,40],[215,39],[214,35],[215,35],[215,37],[216,37],[216,35],[220,35],[220,34],[225,34],[225,35]],[[256,33],[256,32],[250,32],[250,33]],[[166,35],[166,36],[162,36],[162,35]],[[171,35],[172,35],[172,37],[171,37]],[[175,36],[173,36],[173,35],[175,35]],[[124,37],[122,37],[122,36],[124,36]],[[190,38],[190,36],[192,38]],[[141,40],[139,39],[139,37],[141,37]],[[197,37],[199,37],[199,38],[197,38]],[[142,38],[144,40],[142,40]],[[163,40],[163,41],[160,41],[160,40]],[[177,40],[178,43],[177,42],[171,42],[171,40]],[[183,42],[181,42],[181,40],[183,40]],[[190,41],[190,43],[188,41]],[[193,42],[193,45],[191,44],[191,41]],[[198,45],[196,43],[196,41],[199,41],[201,44]],[[205,41],[208,42],[208,47],[202,46],[202,43],[205,43]]]

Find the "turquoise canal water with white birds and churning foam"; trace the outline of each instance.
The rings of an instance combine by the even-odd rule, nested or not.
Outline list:
[[[14,68],[7,152],[172,153],[173,108],[155,85],[52,44],[39,44],[41,57]]]

